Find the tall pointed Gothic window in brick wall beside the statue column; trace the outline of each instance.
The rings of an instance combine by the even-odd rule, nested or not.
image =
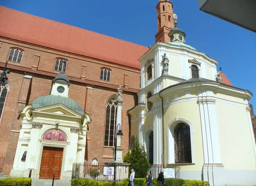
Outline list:
[[[115,146],[115,134],[116,134],[116,113],[117,104],[115,99],[108,101],[106,108],[106,120],[105,120],[105,139],[104,146]]]

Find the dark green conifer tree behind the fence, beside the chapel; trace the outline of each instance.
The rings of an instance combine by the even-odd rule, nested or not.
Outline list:
[[[145,178],[147,175],[150,163],[147,159],[147,153],[145,152],[144,145],[140,145],[139,140],[136,136],[134,144],[131,148],[131,152],[127,152],[124,157],[125,163],[131,163],[129,172],[131,169],[135,171],[135,178]]]

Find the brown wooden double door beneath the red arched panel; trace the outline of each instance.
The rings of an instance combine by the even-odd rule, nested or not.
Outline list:
[[[39,179],[59,180],[61,176],[63,148],[44,147]]]

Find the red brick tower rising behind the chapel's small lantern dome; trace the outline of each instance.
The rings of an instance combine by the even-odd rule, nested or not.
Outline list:
[[[173,6],[169,0],[159,0],[157,8],[157,34],[156,42],[170,42],[168,36],[170,29],[174,28],[173,24]]]

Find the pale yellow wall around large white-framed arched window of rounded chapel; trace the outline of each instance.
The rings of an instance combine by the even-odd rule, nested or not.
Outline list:
[[[197,101],[185,101],[181,103],[172,104],[164,108],[164,131],[165,131],[165,162],[167,162],[167,137],[166,131],[169,123],[175,117],[189,120],[193,125],[193,140],[195,165],[181,165],[181,170],[201,170],[204,164],[203,141],[201,132],[200,110]],[[179,123],[179,122],[177,122]]]

